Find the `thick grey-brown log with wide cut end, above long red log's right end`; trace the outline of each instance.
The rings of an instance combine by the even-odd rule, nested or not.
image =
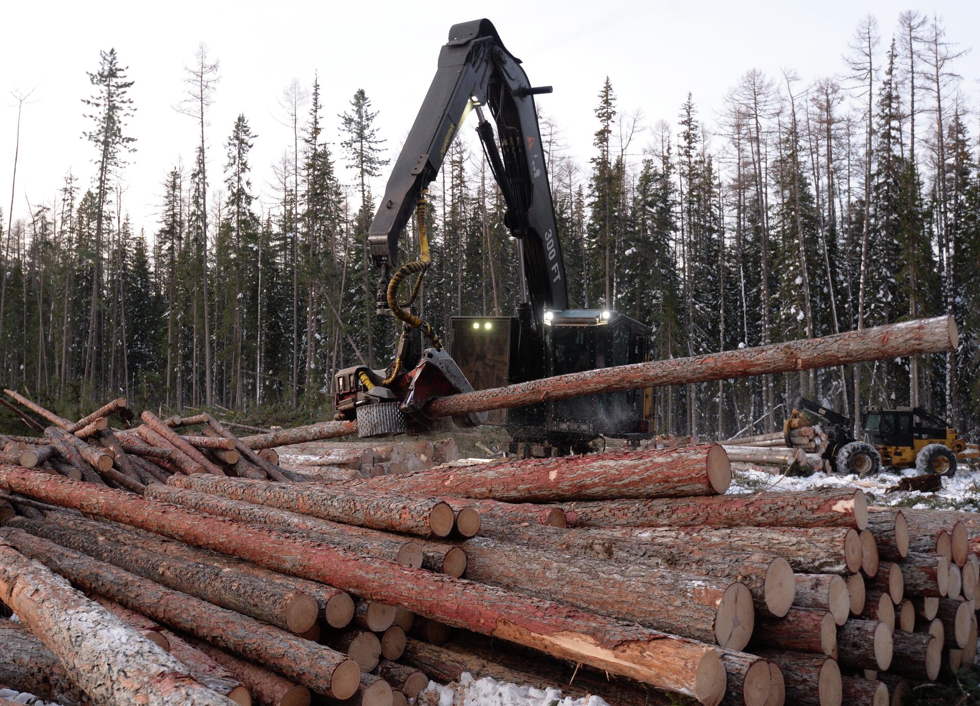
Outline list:
[[[743,584],[650,566],[563,555],[476,538],[463,542],[466,577],[548,596],[590,613],[741,650],[755,622]],[[644,600],[636,600],[643,595]]]

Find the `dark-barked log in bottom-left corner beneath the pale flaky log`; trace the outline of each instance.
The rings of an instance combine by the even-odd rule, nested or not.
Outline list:
[[[0,652],[4,656],[0,684],[61,706],[90,706],[88,694],[74,684],[54,652],[25,625],[0,620]]]

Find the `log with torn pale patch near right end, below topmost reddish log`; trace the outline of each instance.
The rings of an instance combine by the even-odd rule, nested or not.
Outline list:
[[[861,491],[750,493],[565,502],[574,527],[852,527],[867,523]]]

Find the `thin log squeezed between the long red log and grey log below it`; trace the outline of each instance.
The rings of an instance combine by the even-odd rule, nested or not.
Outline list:
[[[354,617],[354,600],[344,591],[332,586],[279,574],[269,569],[254,566],[247,561],[225,556],[208,549],[189,546],[181,541],[168,540],[165,537],[154,535],[152,532],[137,530],[134,527],[116,522],[97,522],[67,512],[50,513],[46,520],[57,527],[87,533],[98,539],[120,541],[126,546],[139,547],[189,562],[215,566],[229,571],[231,575],[245,573],[256,581],[267,582],[270,586],[288,587],[294,593],[306,593],[313,596],[317,601],[321,617],[331,628],[343,628]]]

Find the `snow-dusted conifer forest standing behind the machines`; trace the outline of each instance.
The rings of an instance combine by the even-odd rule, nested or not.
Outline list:
[[[649,325],[655,358],[956,317],[954,353],[658,389],[659,433],[765,433],[803,395],[848,415],[919,405],[980,436],[980,130],[976,77],[957,72],[969,40],[931,15],[868,17],[828,49],[834,75],[746,67],[720,112],[689,95],[644,116],[642,96],[617,94],[610,75],[590,87],[587,159],[539,102],[571,306]],[[0,212],[3,385],[51,408],[125,396],[172,412],[329,418],[333,373],[383,367],[394,351],[367,235],[371,185],[401,136],[378,129],[356,71],[340,116],[310,75],[277,97],[283,159],[256,164],[266,138],[248,115],[209,119],[219,57],[202,44],[173,97],[198,139],[159,165],[158,221],[134,222],[121,197],[129,153],[150,137],[130,129],[141,77],[95,49],[66,69],[88,71],[77,98],[92,161],[28,194],[29,210],[11,199]],[[3,192],[12,166],[16,179],[16,164],[0,165]],[[418,306],[445,338],[451,316],[513,313],[517,251],[477,143],[456,140],[432,187]],[[416,251],[410,224],[402,252]]]

